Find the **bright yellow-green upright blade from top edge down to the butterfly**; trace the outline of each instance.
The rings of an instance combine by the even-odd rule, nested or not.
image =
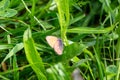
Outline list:
[[[66,31],[67,27],[69,25],[69,0],[55,0],[57,7],[58,7],[58,13],[59,13],[59,23],[61,28],[61,38],[65,45],[68,45],[67,37],[66,37]]]

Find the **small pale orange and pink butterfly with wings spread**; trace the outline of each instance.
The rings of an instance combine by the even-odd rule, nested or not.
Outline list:
[[[55,36],[47,36],[46,41],[48,42],[50,47],[53,48],[54,51],[58,55],[62,55],[62,53],[63,53],[63,43],[62,43],[61,39],[59,39],[59,38],[57,38]]]

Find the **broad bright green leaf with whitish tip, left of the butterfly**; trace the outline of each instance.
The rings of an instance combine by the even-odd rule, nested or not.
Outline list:
[[[35,48],[35,43],[32,39],[30,28],[24,32],[23,36],[24,49],[26,58],[31,64],[32,69],[36,73],[38,80],[47,80],[45,76],[45,69],[42,62],[42,59]]]

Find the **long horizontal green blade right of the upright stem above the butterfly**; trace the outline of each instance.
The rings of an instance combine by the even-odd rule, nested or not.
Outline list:
[[[72,28],[68,29],[68,33],[84,33],[84,34],[99,34],[99,33],[107,33],[114,29],[115,26],[111,26],[108,28],[89,28],[89,27],[80,27],[80,28]]]

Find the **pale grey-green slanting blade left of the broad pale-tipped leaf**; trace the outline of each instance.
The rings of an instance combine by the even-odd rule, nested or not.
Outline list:
[[[15,47],[7,54],[7,56],[3,59],[2,62],[5,62],[7,59],[9,59],[11,56],[13,56],[15,53],[23,49],[23,43],[16,44]]]

